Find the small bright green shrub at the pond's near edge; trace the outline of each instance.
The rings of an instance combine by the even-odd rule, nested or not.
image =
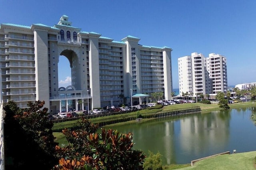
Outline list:
[[[145,162],[143,164],[144,170],[162,170],[162,160],[161,154],[158,152],[157,154],[153,154],[153,152],[148,151],[148,157],[145,158]]]

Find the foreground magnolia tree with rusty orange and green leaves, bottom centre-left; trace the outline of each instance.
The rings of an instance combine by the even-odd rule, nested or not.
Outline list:
[[[60,166],[54,170],[142,170],[146,156],[140,150],[132,150],[132,133],[122,134],[112,129],[86,135],[92,156],[85,154],[81,159],[61,158]]]

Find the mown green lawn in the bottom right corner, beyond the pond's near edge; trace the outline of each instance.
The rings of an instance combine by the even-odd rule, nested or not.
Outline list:
[[[179,170],[255,170],[254,157],[256,151],[236,154],[224,154],[200,160],[194,166],[179,168]]]

